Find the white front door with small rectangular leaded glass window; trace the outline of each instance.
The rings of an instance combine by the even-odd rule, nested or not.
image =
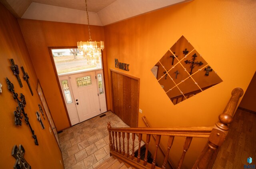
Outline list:
[[[80,122],[100,114],[95,72],[70,75],[76,109]]]

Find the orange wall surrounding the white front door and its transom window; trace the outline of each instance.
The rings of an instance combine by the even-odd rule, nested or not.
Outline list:
[[[89,39],[88,27],[82,24],[48,22],[19,19],[20,28],[36,70],[49,109],[58,131],[70,127],[68,117],[58,87],[58,80],[50,59],[48,47],[77,46],[77,41]],[[90,26],[93,40],[104,41],[104,30],[101,26]],[[103,51],[105,55],[105,50]],[[106,60],[104,56],[103,60]],[[104,63],[106,66],[106,63]],[[106,82],[106,87],[108,82]],[[108,107],[110,105],[108,104]]]

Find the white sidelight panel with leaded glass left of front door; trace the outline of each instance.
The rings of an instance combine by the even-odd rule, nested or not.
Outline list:
[[[78,113],[76,110],[76,101],[73,96],[72,87],[70,85],[69,76],[60,76],[59,82],[62,90],[62,95],[68,110],[68,116],[70,119],[71,125],[79,123]]]

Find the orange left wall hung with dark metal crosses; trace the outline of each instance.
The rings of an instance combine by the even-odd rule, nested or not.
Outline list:
[[[11,155],[14,145],[23,145],[25,149],[25,159],[36,169],[63,169],[63,161],[60,149],[54,138],[49,132],[49,123],[43,120],[46,129],[42,129],[36,118],[36,111],[39,111],[38,103],[42,104],[36,92],[37,76],[33,64],[30,60],[28,49],[22,37],[18,22],[14,16],[0,3],[0,83],[2,93],[0,93],[0,168],[11,169],[15,159]],[[15,64],[24,66],[29,75],[29,82],[34,92],[31,95],[26,81],[23,80],[23,73],[20,69],[20,78],[23,87],[18,84],[18,80],[10,69],[10,58],[14,59]],[[22,119],[22,125],[14,123],[14,111],[17,101],[12,97],[8,90],[5,78],[14,84],[16,93],[23,93],[26,98],[25,112],[28,114],[29,122],[34,129],[39,145],[34,144],[31,131]],[[61,163],[60,163],[61,162]]]

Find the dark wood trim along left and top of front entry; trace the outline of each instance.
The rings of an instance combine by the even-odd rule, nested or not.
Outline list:
[[[70,118],[69,118],[69,115],[68,115],[68,109],[66,107],[64,96],[62,94],[62,90],[61,90],[61,86],[60,86],[60,81],[59,81],[59,78],[58,78],[58,73],[57,73],[56,66],[55,66],[55,63],[54,63],[54,59],[53,59],[53,56],[52,56],[52,49],[67,49],[67,48],[77,48],[77,46],[48,47],[48,51],[49,51],[49,54],[50,54],[50,59],[51,59],[52,66],[53,66],[53,69],[54,69],[55,78],[56,78],[56,81],[57,81],[57,84],[58,84],[58,87],[59,87],[59,91],[60,91],[60,95],[61,95],[61,98],[62,98],[62,103],[64,105],[64,109],[66,111],[66,115],[68,117],[68,123],[69,123],[69,126],[71,127],[72,125],[71,125],[71,121],[70,121]]]

